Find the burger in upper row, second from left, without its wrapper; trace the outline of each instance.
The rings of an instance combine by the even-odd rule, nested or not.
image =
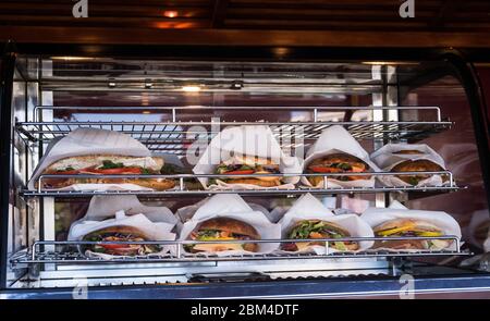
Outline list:
[[[221,162],[215,171],[215,174],[225,175],[245,175],[245,174],[280,174],[279,164],[272,160],[260,157],[235,156]],[[257,176],[257,177],[220,177],[229,184],[253,184],[262,187],[273,187],[281,185],[280,176]],[[210,183],[215,183],[210,181]]]

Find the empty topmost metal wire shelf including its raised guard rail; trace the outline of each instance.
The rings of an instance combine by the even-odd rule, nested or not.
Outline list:
[[[140,111],[142,107],[111,107],[111,108],[66,108],[66,107],[37,107],[36,120],[42,119],[41,114],[45,110],[54,109],[72,109],[72,110],[94,110],[105,112],[108,110],[133,110]],[[302,122],[266,122],[266,121],[188,121],[182,120],[181,113],[198,109],[203,111],[213,110],[250,110],[258,113],[264,110],[287,110],[311,112],[311,121]],[[268,125],[273,135],[281,144],[291,144],[298,146],[310,144],[319,137],[321,132],[332,125],[342,125],[356,139],[384,139],[401,140],[408,139],[416,141],[450,128],[453,123],[442,121],[440,109],[438,107],[148,107],[144,110],[155,110],[161,113],[169,113],[171,121],[163,122],[122,122],[122,121],[103,121],[103,122],[77,122],[77,121],[57,121],[57,122],[19,122],[15,129],[21,136],[30,141],[49,143],[54,138],[63,137],[76,128],[90,127],[117,131],[132,136],[145,144],[152,151],[169,152],[183,155],[188,145],[199,139],[200,143],[209,141],[222,128],[226,126],[237,125]],[[433,113],[432,121],[328,121],[322,120],[319,113],[329,111],[382,111],[397,110],[404,111],[428,111]],[[199,126],[199,127],[196,127]],[[298,141],[301,139],[301,141]]]

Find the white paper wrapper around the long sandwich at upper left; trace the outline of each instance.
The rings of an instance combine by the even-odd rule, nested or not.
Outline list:
[[[28,188],[34,189],[39,175],[53,162],[68,157],[85,155],[151,156],[148,148],[128,135],[106,129],[77,128],[65,137],[51,143],[47,153],[39,161],[33,177],[28,182]],[[148,189],[134,184],[76,184],[76,186],[70,186],[64,189],[94,190],[94,188],[97,190],[112,190],[114,188],[131,190]]]

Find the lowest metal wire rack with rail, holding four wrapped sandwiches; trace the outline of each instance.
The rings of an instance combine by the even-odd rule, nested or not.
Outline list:
[[[363,251],[333,251],[332,243],[339,242],[356,242],[368,243],[376,240],[434,240],[444,239],[452,244],[454,249],[441,250],[378,250],[366,249]],[[216,254],[201,252],[189,254],[184,250],[185,245],[196,244],[274,244],[279,249],[282,244],[287,243],[320,243],[324,254],[303,252],[287,254],[285,251],[272,251],[267,254],[241,254],[230,256],[218,256]],[[90,245],[159,245],[167,248],[167,252],[146,256],[113,256],[112,258],[101,258],[97,256],[87,256],[83,252],[83,246]],[[41,250],[46,247],[64,247],[61,250]],[[75,250],[73,250],[75,248]],[[72,249],[72,250],[70,250]],[[58,263],[58,264],[90,264],[90,263],[150,263],[150,262],[208,262],[208,261],[237,261],[237,260],[291,260],[291,259],[334,259],[334,258],[377,258],[377,257],[437,257],[437,256],[467,256],[468,251],[461,250],[461,243],[457,236],[444,235],[437,237],[342,237],[342,238],[315,238],[315,239],[257,239],[257,240],[145,240],[145,242],[85,242],[85,240],[38,240],[33,244],[28,251],[20,251],[10,258],[10,263],[16,264],[34,264],[34,263]]]

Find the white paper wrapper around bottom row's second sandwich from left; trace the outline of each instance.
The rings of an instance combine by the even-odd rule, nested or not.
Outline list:
[[[252,208],[235,194],[219,194],[211,197],[194,214],[192,220],[184,223],[180,233],[180,239],[187,239],[191,232],[201,222],[213,218],[231,218],[243,221],[254,226],[261,239],[279,239],[281,237],[281,226],[272,224],[262,212],[253,211]],[[218,251],[217,256],[232,256],[243,254],[268,254],[274,251],[279,243],[259,244],[257,252],[245,250]],[[183,252],[184,249],[182,248]],[[187,254],[191,255],[191,254]],[[195,254],[199,256],[199,254]]]

